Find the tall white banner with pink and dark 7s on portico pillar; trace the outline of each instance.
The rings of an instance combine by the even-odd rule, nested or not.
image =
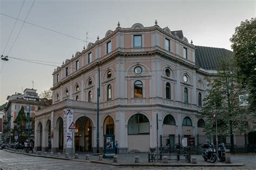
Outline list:
[[[63,111],[63,136],[64,146],[66,148],[72,147],[72,132],[69,131],[69,126],[73,122],[73,110],[65,109]]]

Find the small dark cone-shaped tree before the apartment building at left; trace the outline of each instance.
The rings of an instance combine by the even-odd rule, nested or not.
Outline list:
[[[18,132],[18,139],[19,141],[23,142],[24,139],[27,138],[26,135],[26,124],[28,123],[29,119],[25,114],[24,107],[21,108],[18,112],[18,116],[16,117],[14,123],[17,128]]]

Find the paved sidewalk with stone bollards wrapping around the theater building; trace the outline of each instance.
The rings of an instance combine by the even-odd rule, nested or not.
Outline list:
[[[5,149],[5,151],[15,152]],[[21,153],[21,152],[15,152]],[[35,152],[36,153],[36,152]],[[28,154],[37,157],[46,157],[46,158],[55,158],[55,159],[64,159],[64,160],[71,160],[71,161],[85,161],[85,162],[93,162],[97,164],[109,164],[114,166],[170,166],[170,167],[187,167],[187,166],[209,166],[209,167],[256,167],[256,157],[255,155],[231,155],[231,164],[225,164],[225,162],[216,161],[214,164],[207,161],[205,162],[201,155],[191,155],[191,157],[197,157],[197,164],[190,164],[185,161],[168,161],[167,164],[163,164],[160,161],[149,162],[148,160],[148,153],[123,153],[123,154],[116,154],[118,162],[113,162],[113,159],[103,159],[99,161],[98,155],[93,155],[92,152],[76,152],[78,153],[78,159],[75,159],[75,154],[69,155],[69,158],[65,158],[65,154],[60,153],[60,156],[57,157],[57,153],[53,153],[50,156],[50,152],[41,152],[41,155],[37,154],[28,154],[28,153],[21,153],[21,154]],[[90,155],[90,160],[85,160],[86,154]],[[139,164],[135,163],[135,156],[139,156]]]

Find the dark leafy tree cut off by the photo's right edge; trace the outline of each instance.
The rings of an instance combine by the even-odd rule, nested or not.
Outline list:
[[[249,103],[252,112],[256,112],[256,20],[245,20],[235,28],[235,33],[230,39],[234,51],[234,59],[238,65],[240,82],[250,91]]]

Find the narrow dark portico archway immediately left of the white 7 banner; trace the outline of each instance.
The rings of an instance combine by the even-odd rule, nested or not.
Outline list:
[[[63,119],[62,117],[59,117],[56,122],[56,137],[57,140],[56,143],[58,144],[58,148],[55,148],[57,152],[63,151],[63,142],[64,142],[64,136],[63,136]]]

